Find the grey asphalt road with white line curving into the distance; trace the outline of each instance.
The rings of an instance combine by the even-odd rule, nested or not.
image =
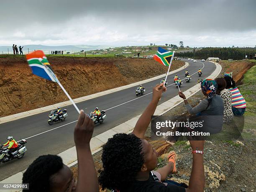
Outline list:
[[[188,61],[187,59],[184,59],[184,61],[189,62],[189,66],[186,68],[189,71],[189,74],[195,74],[191,77],[191,82],[186,83],[186,81],[183,80],[183,84],[180,87],[182,91],[197,84],[197,79],[199,78],[197,75],[198,68],[204,67],[202,69],[202,79],[208,77],[216,68],[215,64],[208,61],[195,63]],[[186,69],[177,72],[179,78],[184,79],[184,72]],[[169,86],[167,87],[167,91],[163,94],[159,104],[178,94],[176,86],[170,85],[173,83],[174,75],[175,74],[172,74],[168,77],[167,85]],[[85,113],[90,113],[95,107],[100,108],[100,110],[107,110],[107,118],[104,123],[95,126],[93,136],[97,136],[98,134],[141,114],[151,100],[152,95],[150,92],[152,92],[152,87],[158,84],[160,80],[161,79],[157,79],[143,84],[143,87],[146,88],[143,97],[136,97],[136,87],[131,87],[77,103],[77,107],[79,109],[84,109]],[[54,125],[48,124],[49,112],[0,124],[0,144],[5,143],[7,141],[6,137],[12,135],[16,141],[26,138],[26,147],[28,149],[22,159],[15,159],[5,164],[0,164],[1,173],[4,173],[0,175],[0,181],[26,169],[29,164],[40,155],[59,154],[74,146],[73,131],[76,124],[75,121],[78,118],[78,113],[72,105],[67,106],[66,109],[68,113],[66,120],[54,123]],[[51,130],[53,128],[55,129]],[[48,132],[43,133],[45,131]]]

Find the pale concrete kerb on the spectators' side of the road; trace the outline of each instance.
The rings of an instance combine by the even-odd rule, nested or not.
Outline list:
[[[215,74],[212,79],[218,77],[218,75],[220,74],[221,69],[222,69],[220,64],[218,64],[218,63],[214,63],[214,64],[216,65],[216,69],[212,73],[212,74]],[[209,78],[209,77],[207,77],[207,78]],[[196,90],[193,89],[195,87],[197,87]],[[186,95],[187,98],[191,97],[192,95],[194,95],[195,93],[197,93],[200,90],[201,90],[201,88],[198,88],[197,84],[195,86],[191,87],[189,90],[187,90],[187,92],[191,93],[189,96]],[[158,105],[154,115],[163,115],[164,113],[168,112],[172,108],[174,108],[177,105],[179,105],[180,103],[182,103],[183,100],[182,99],[178,100],[178,97],[179,96],[175,96],[172,99],[162,103],[161,105]],[[175,99],[174,102],[173,102],[173,99]],[[169,106],[169,105],[171,105],[171,106]],[[169,108],[167,110],[165,110],[166,107],[169,107]],[[102,149],[102,146],[108,141],[108,138],[111,138],[115,133],[127,133],[127,134],[131,133],[140,116],[141,115],[138,115],[135,118],[132,118],[131,120],[128,120],[114,128],[109,129],[108,131],[106,131],[107,133],[104,132],[105,134],[101,133],[100,135],[93,137],[90,142],[92,154],[95,154],[96,152],[100,151]],[[69,148],[68,150],[63,151],[62,153],[60,153],[58,155],[61,156],[61,158],[65,160],[65,161],[63,161],[63,163],[67,164],[67,166],[69,166],[69,167],[77,164],[77,153],[76,153],[75,147]],[[22,175],[23,175],[23,172],[25,172],[25,171],[26,170],[19,172],[11,177],[8,177],[7,179],[4,179],[0,183],[21,183]]]

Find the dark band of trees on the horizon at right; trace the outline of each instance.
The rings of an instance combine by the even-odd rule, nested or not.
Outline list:
[[[244,59],[247,55],[249,58],[250,55],[254,56],[256,54],[255,48],[213,48],[206,47],[200,50],[186,51],[186,52],[177,52],[175,56],[179,57],[190,57],[195,59],[207,59],[208,57],[218,57],[222,60],[234,59],[241,60]]]

